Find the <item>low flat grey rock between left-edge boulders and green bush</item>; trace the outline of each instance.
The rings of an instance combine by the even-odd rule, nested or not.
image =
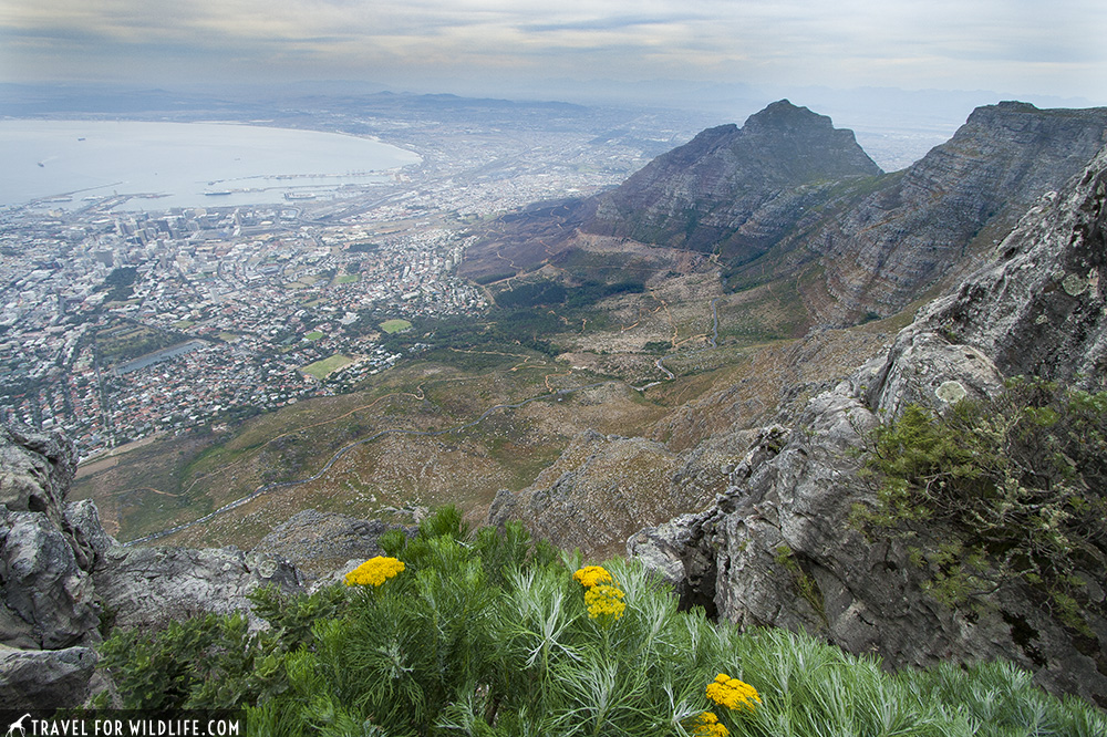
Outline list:
[[[96,594],[122,627],[159,627],[199,614],[250,614],[248,594],[272,585],[303,591],[299,572],[284,560],[234,549],[112,548],[95,571]]]

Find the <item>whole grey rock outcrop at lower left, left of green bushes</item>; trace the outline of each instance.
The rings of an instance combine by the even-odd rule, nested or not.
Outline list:
[[[0,703],[11,709],[82,705],[102,622],[170,619],[249,606],[272,584],[300,590],[283,560],[240,550],[124,549],[95,506],[66,500],[76,450],[61,435],[0,426]]]

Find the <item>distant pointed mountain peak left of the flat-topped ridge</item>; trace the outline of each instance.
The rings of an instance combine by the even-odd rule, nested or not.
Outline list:
[[[878,174],[851,131],[784,100],[658,157],[601,196],[583,229],[748,261],[839,195],[841,180]]]

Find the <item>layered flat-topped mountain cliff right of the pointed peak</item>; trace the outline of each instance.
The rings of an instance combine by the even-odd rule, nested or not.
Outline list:
[[[1002,239],[1038,197],[1075,176],[1104,144],[1105,108],[977,108],[951,141],[809,239],[838,301],[824,319],[902,309],[964,263],[974,240],[990,247]]]

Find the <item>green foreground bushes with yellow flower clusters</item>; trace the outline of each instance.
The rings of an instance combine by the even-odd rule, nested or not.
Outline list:
[[[806,635],[739,633],[640,565],[582,567],[456,509],[345,584],[255,596],[103,645],[126,708],[245,707],[251,735],[1103,735],[1010,665],[890,674]]]

